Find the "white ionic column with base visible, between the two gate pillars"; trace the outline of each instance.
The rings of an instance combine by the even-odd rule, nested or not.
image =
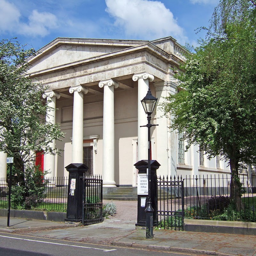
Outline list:
[[[114,130],[114,88],[118,83],[112,79],[102,80],[99,87],[104,87],[103,97],[103,162],[102,177],[104,187],[116,187],[115,182],[115,130]]]

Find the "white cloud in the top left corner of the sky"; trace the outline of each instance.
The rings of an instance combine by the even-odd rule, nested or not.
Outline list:
[[[46,36],[50,29],[57,27],[57,18],[50,12],[33,10],[28,22],[21,21],[21,13],[14,4],[0,0],[0,32],[12,32],[17,35]],[[26,17],[25,17],[26,18]]]

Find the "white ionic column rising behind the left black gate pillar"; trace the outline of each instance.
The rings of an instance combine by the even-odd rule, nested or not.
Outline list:
[[[84,135],[84,94],[88,89],[76,85],[69,88],[74,93],[73,130],[72,130],[72,163],[83,164],[83,135]]]

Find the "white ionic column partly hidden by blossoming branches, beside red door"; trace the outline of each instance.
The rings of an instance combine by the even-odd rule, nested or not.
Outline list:
[[[43,94],[43,98],[46,98],[46,103],[48,107],[45,120],[48,123],[56,124],[56,98],[60,99],[60,94],[58,92],[49,91]],[[51,148],[55,148],[55,140],[49,143]],[[50,172],[45,175],[47,178],[54,178],[55,170],[55,155],[45,154],[44,155],[44,170],[49,170]]]

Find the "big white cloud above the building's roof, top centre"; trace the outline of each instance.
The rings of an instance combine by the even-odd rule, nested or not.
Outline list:
[[[184,30],[172,12],[163,3],[150,0],[105,0],[106,11],[113,16],[115,25],[127,36],[157,39],[172,36],[180,44],[187,41]]]

